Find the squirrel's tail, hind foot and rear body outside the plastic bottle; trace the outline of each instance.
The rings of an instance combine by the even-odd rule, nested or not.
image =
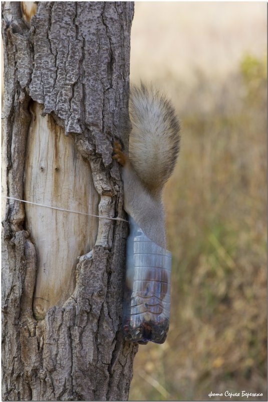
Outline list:
[[[166,248],[163,187],[177,160],[180,124],[165,95],[152,85],[133,86],[128,155],[114,142],[113,159],[123,166],[124,209],[154,243]]]

